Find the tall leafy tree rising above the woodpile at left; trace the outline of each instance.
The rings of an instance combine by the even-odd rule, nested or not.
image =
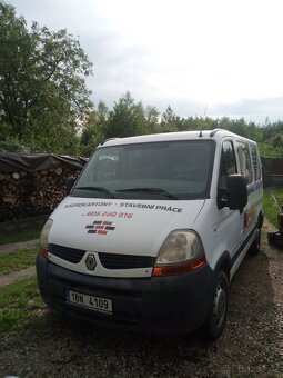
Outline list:
[[[75,152],[77,130],[91,109],[84,77],[92,63],[67,30],[27,28],[0,1],[0,128],[32,150]]]

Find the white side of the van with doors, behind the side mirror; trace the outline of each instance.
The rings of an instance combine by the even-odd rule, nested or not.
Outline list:
[[[221,149],[224,142],[231,143],[234,150],[236,173],[247,181],[247,203],[243,211],[218,207],[218,187],[221,185]],[[206,260],[214,270],[223,253],[229,253],[232,278],[241,265],[246,251],[257,236],[262,226],[263,182],[261,162],[256,143],[244,138],[223,138],[215,151],[214,171],[211,195],[196,219],[194,229],[203,241]]]

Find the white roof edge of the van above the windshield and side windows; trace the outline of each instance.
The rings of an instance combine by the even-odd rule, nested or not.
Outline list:
[[[245,141],[255,143],[255,141],[241,137],[231,131],[228,131],[224,129],[214,129],[214,130],[152,133],[152,135],[137,136],[137,137],[127,137],[127,138],[110,138],[110,139],[102,141],[99,147],[158,142],[158,141],[171,141],[171,140],[200,140],[202,139],[202,140],[220,141],[223,137],[234,137],[239,140],[243,140],[243,141],[245,140]]]

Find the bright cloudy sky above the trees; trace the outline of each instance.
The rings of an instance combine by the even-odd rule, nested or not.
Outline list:
[[[6,2],[28,26],[79,39],[95,103],[112,108],[130,91],[161,113],[283,120],[282,0]]]

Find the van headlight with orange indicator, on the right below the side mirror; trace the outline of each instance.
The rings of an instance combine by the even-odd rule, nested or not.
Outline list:
[[[205,255],[198,233],[191,230],[175,230],[161,246],[152,275],[182,275],[204,263]]]

